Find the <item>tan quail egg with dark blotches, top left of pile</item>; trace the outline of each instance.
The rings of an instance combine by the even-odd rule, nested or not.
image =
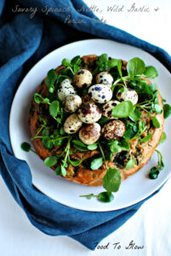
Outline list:
[[[86,88],[92,83],[92,80],[92,73],[83,68],[74,75],[73,82],[78,88]]]

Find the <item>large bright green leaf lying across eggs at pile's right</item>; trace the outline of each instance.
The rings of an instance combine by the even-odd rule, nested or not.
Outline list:
[[[117,118],[126,118],[134,111],[134,105],[130,101],[121,102],[112,109],[111,115]]]

